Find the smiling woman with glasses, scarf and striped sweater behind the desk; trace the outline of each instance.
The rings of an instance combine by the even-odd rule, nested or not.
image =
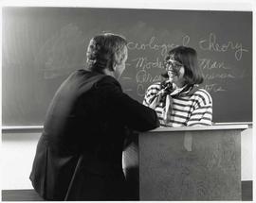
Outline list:
[[[178,46],[164,61],[166,79],[151,85],[143,104],[154,109],[161,127],[210,126],[212,99],[198,88],[203,82],[197,54],[191,47]]]

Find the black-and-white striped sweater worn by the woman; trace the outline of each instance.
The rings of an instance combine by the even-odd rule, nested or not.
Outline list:
[[[161,90],[161,83],[151,85],[144,97],[143,104],[151,107],[155,95]],[[186,88],[185,88],[186,89]],[[161,99],[155,106],[155,111],[161,127],[183,126],[210,126],[212,120],[212,99],[210,93],[203,89],[189,88],[181,90],[181,93],[169,93],[172,97],[172,107],[168,122],[164,120],[165,99]],[[187,88],[188,89],[188,88]]]

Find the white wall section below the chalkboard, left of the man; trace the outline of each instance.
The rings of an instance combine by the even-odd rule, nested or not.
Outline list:
[[[2,135],[2,189],[31,189],[29,174],[40,133]]]

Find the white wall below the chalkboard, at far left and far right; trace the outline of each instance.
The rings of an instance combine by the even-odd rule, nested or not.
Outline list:
[[[2,135],[2,189],[31,189],[29,174],[40,133]],[[242,133],[242,180],[252,180],[252,129]]]

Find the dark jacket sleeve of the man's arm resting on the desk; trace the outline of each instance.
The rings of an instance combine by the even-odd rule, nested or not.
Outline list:
[[[110,108],[127,127],[137,131],[147,131],[159,127],[155,110],[145,107],[123,93],[119,82],[114,77],[104,77],[99,82],[99,86],[105,95],[106,108]]]

